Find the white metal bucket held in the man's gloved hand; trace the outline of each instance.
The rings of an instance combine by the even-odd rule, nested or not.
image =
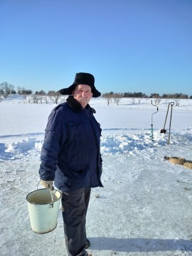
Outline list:
[[[44,234],[54,230],[58,222],[61,192],[38,189],[29,193],[26,200],[28,201],[29,218],[33,232]]]

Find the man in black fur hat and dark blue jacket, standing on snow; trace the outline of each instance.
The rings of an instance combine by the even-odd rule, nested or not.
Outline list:
[[[70,96],[49,115],[39,173],[45,188],[53,189],[54,181],[62,192],[68,256],[87,256],[86,212],[91,187],[102,187],[101,129],[88,103],[100,92],[92,74],[77,73],[74,83],[60,94]]]

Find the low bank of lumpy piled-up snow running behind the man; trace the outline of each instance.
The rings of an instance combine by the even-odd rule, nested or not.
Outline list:
[[[174,146],[187,146],[192,142],[192,129],[173,132],[170,135],[170,144]],[[9,144],[0,144],[0,159],[17,159],[24,155],[40,154],[43,134],[41,139],[28,137],[20,141],[11,142]],[[138,153],[143,149],[156,150],[156,147],[168,145],[168,134],[154,132],[154,140],[152,141],[151,132],[143,130],[138,133],[118,132],[104,133],[101,137],[100,151],[102,154],[122,154],[122,153]]]

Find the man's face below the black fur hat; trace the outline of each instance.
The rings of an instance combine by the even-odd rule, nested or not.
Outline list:
[[[72,96],[81,104],[82,108],[85,108],[93,96],[92,89],[89,85],[77,85]]]

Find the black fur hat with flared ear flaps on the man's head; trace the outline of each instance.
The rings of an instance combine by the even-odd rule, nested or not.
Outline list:
[[[89,73],[76,73],[74,83],[68,88],[59,90],[59,92],[63,95],[71,95],[77,85],[89,85],[92,88],[93,98],[100,96],[100,92],[95,88],[95,78]]]

